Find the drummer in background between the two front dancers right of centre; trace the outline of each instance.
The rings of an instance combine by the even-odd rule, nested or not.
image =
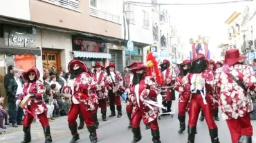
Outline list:
[[[161,67],[161,77],[163,80],[161,95],[166,96],[165,100],[163,100],[162,104],[167,109],[162,109],[163,113],[170,113],[172,107],[172,100],[175,100],[175,92],[174,89],[171,88],[176,79],[176,73],[173,69],[170,68],[171,63],[168,60],[163,60],[163,63],[160,64]],[[165,92],[166,91],[166,92]],[[166,114],[163,114],[166,115]]]

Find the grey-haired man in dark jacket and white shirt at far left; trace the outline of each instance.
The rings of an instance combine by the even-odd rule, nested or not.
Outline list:
[[[14,78],[10,79],[7,87],[8,92],[8,114],[9,122],[12,123],[13,127],[18,127],[18,125],[23,125],[22,117],[24,115],[23,109],[18,107],[15,102],[19,98],[19,95],[23,91],[23,82],[20,79],[21,70],[13,68]]]

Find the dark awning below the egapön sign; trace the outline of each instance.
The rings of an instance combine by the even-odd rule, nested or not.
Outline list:
[[[39,47],[2,47],[0,46],[0,54],[32,54],[41,56],[41,50]]]

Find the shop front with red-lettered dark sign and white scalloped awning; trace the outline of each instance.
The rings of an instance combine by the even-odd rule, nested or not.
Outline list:
[[[111,58],[108,53],[107,43],[100,39],[91,39],[84,36],[73,36],[73,57],[85,63],[90,69],[96,62],[107,65],[107,59]]]

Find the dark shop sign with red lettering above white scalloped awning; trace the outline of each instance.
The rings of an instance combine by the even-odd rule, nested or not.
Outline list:
[[[73,50],[84,52],[104,52],[107,53],[107,44],[84,39],[73,39]]]

